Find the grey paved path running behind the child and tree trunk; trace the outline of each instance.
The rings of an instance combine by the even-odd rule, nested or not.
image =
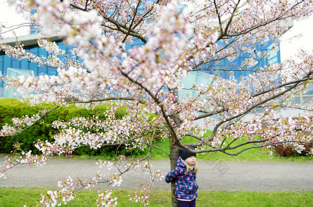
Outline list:
[[[3,163],[4,158],[0,157]],[[89,178],[103,168],[96,160],[58,158],[43,167],[16,166],[7,178],[0,179],[0,187],[55,188],[58,178],[84,175]],[[169,160],[152,160],[152,170],[160,169],[164,174],[170,170]],[[199,161],[197,182],[200,190],[225,191],[302,191],[313,190],[313,162],[210,162]],[[134,189],[138,181],[147,181],[149,175],[139,168],[132,174],[123,175],[120,188]],[[104,186],[99,185],[100,188]],[[170,189],[164,180],[155,181],[154,188]]]

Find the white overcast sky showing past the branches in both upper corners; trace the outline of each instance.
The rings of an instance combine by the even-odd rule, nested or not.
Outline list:
[[[9,26],[19,25],[27,22],[22,14],[16,13],[14,7],[9,6],[7,0],[0,0],[0,22]],[[294,26],[288,30],[281,39],[281,60],[284,61],[289,57],[295,57],[299,49],[313,50],[313,15],[310,18],[294,21]],[[29,27],[22,27],[14,30],[17,36],[29,34]],[[296,35],[301,37],[292,38]],[[3,34],[4,37],[12,37],[13,33]]]

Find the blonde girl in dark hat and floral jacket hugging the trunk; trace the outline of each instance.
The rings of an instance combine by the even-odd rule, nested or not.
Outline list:
[[[194,147],[189,147],[194,150]],[[175,180],[175,196],[180,207],[195,207],[198,185],[195,181],[195,174],[198,172],[198,163],[195,160],[195,153],[184,148],[179,149],[181,156],[178,157],[174,170],[167,173],[167,183]]]

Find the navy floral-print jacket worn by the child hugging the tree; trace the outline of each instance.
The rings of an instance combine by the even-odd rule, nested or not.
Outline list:
[[[195,173],[193,170],[185,174],[186,164],[181,157],[178,157],[174,170],[167,173],[165,181],[167,183],[175,180],[175,196],[182,199],[197,198],[198,185],[195,181]]]

